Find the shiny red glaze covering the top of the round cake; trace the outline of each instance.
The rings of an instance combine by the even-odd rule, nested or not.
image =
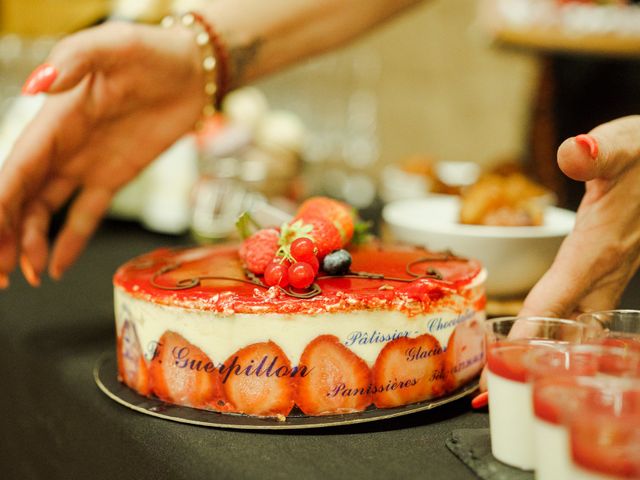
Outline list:
[[[411,279],[407,265],[424,257],[437,256],[413,247],[359,247],[351,250],[354,272],[383,274]],[[158,275],[162,268],[179,267]],[[118,269],[114,285],[129,295],[162,305],[180,306],[222,313],[320,313],[360,309],[404,310],[409,314],[427,311],[452,293],[469,294],[467,287],[481,272],[475,260],[429,261],[415,264],[412,272],[436,269],[442,280],[420,278],[409,283],[389,279],[317,279],[318,296],[294,298],[278,287],[269,289],[233,280],[202,278],[187,289],[171,289],[180,280],[217,276],[246,280],[237,245],[196,247],[186,250],[160,249],[135,258]],[[152,279],[155,275],[156,285]]]

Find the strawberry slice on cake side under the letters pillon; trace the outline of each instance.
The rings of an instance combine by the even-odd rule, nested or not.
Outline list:
[[[230,411],[262,417],[287,416],[293,408],[291,362],[278,345],[254,343],[219,368]]]

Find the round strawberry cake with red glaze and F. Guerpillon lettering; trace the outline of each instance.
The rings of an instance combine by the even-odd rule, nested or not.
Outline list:
[[[349,249],[313,288],[267,286],[238,245],[161,249],[115,274],[119,378],[141,395],[284,419],[447,395],[485,361],[485,271],[413,247]],[[296,410],[294,410],[296,409]]]

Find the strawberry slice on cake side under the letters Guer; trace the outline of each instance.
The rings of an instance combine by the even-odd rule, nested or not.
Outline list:
[[[225,410],[220,376],[213,361],[180,334],[166,331],[151,361],[153,393],[169,403]]]

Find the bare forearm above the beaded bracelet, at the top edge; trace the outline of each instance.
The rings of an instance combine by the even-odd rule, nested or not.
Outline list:
[[[218,0],[203,14],[223,36],[239,86],[344,44],[420,0]]]

